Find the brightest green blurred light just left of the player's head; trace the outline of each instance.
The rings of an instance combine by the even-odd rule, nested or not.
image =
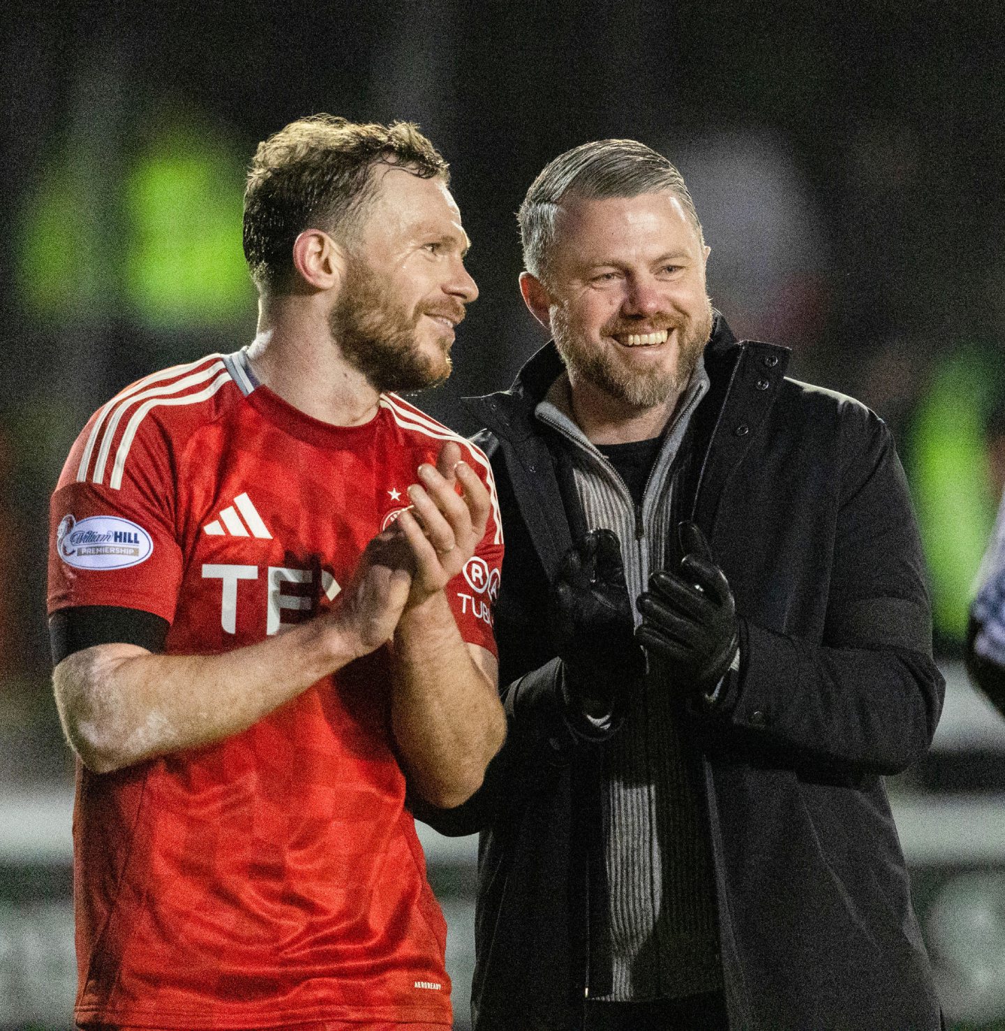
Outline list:
[[[157,328],[220,325],[254,300],[241,251],[239,162],[196,134],[173,133],[127,175],[126,298]]]

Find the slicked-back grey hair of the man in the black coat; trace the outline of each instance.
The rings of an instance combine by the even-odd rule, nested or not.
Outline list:
[[[634,139],[600,139],[560,154],[531,184],[516,213],[524,267],[539,279],[547,278],[563,200],[638,197],[664,190],[680,201],[704,246],[701,223],[683,176],[662,154]]]

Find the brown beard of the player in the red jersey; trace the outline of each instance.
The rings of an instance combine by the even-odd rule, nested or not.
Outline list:
[[[450,374],[449,348],[453,340],[444,335],[441,352],[426,354],[416,338],[424,314],[449,314],[456,322],[464,318],[458,302],[449,310],[442,307],[427,312],[422,305],[410,313],[388,300],[380,277],[359,259],[350,259],[339,302],[332,308],[329,326],[345,360],[359,369],[380,393],[408,393],[434,387]]]

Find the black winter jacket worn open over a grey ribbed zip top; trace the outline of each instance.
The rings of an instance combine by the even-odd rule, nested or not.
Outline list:
[[[788,359],[716,318],[675,492],[741,618],[733,704],[685,729],[704,768],[730,1026],[925,1031],[939,1005],[881,780],[925,753],[942,704],[920,544],[884,424],[784,378]],[[465,805],[416,809],[443,833],[481,832],[476,1031],[580,1028],[591,980],[604,987],[603,744],[565,719],[546,619],[571,535],[534,406],[561,369],[548,344],[476,401],[506,535],[508,736]]]

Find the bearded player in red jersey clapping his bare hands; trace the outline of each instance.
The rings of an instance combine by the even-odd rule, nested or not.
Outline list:
[[[476,293],[442,173],[391,145],[368,204],[397,224],[362,257],[298,233],[255,343],[112,398],[53,496],[81,1027],[450,1025],[406,792],[458,804],[501,743],[503,541],[484,456],[387,389],[439,377]],[[402,235],[420,271],[381,279]]]

